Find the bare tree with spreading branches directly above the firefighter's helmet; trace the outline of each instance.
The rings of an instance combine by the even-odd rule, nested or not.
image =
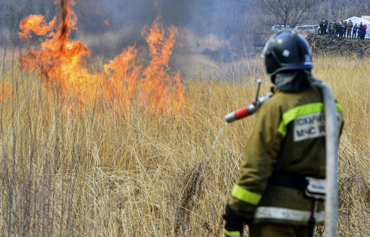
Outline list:
[[[310,18],[318,2],[322,0],[261,0],[267,14],[276,18],[275,24],[295,27]]]

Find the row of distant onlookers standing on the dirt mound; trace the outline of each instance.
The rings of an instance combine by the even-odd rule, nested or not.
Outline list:
[[[354,23],[353,25],[351,20],[349,20],[348,22],[346,20],[338,22],[333,20],[329,21],[328,23],[328,19],[322,18],[319,21],[319,28],[317,33],[321,35],[335,34],[339,37],[357,37],[360,40],[364,40],[367,29],[368,26],[366,24],[362,24],[362,22],[360,22],[359,25],[357,25],[357,23]]]

